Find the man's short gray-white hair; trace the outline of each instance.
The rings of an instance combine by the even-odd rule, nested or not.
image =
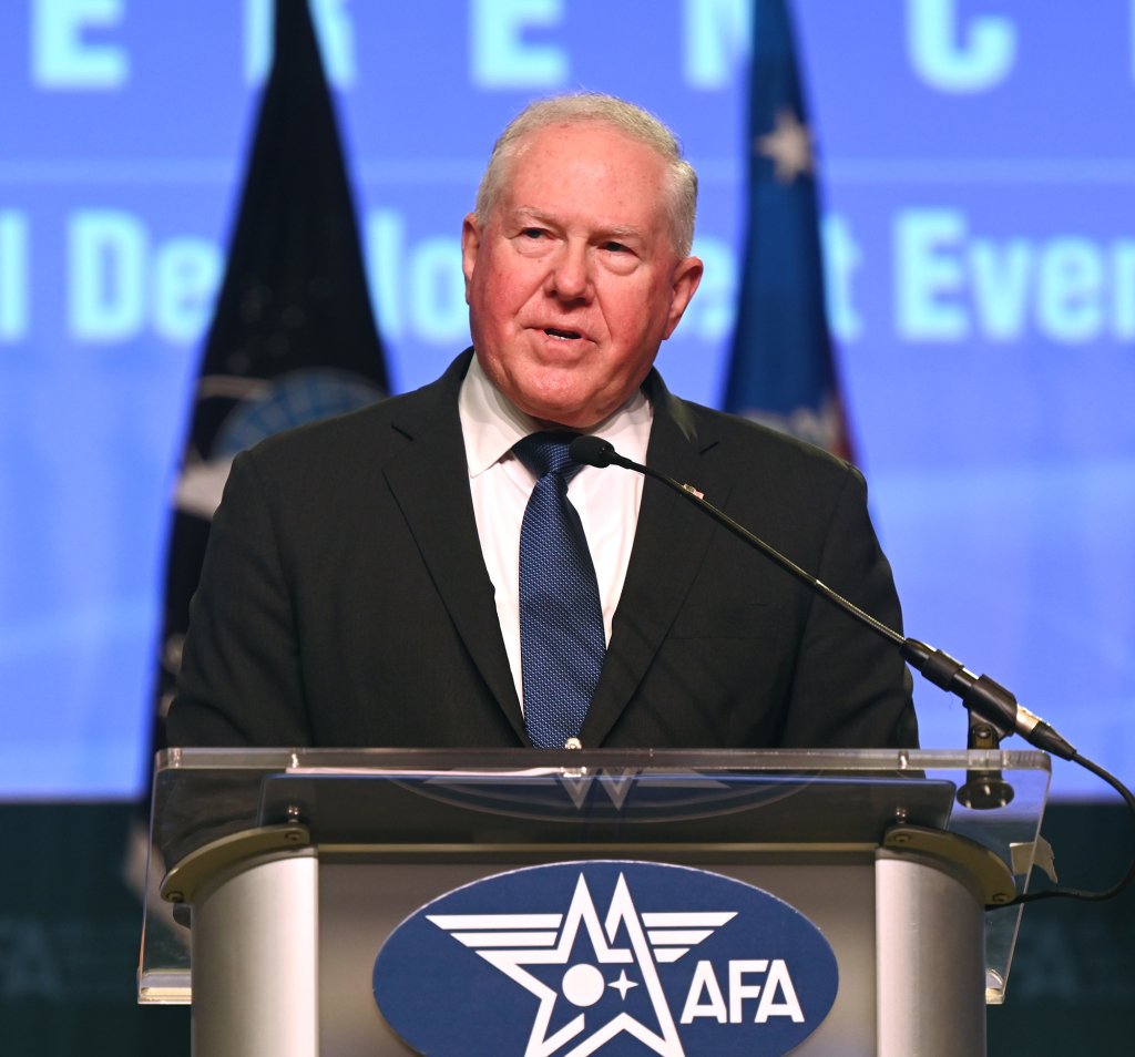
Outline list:
[[[553,125],[581,125],[600,121],[648,146],[666,162],[666,212],[674,250],[680,257],[690,255],[693,221],[698,205],[698,176],[684,158],[682,145],[653,113],[600,92],[554,95],[529,103],[514,117],[493,145],[489,163],[477,188],[477,218],[485,222],[496,208],[508,177],[508,166],[523,147],[526,136]]]

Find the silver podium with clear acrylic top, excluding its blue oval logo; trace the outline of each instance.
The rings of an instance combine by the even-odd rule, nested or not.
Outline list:
[[[839,991],[793,1054],[976,1057],[1020,920],[987,907],[1027,885],[1049,775],[1032,751],[170,750],[138,1000],[192,1001],[194,1057],[410,1054],[371,991],[400,922],[511,869],[631,860],[818,927]]]

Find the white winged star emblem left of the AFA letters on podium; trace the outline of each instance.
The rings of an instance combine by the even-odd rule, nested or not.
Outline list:
[[[524,1057],[586,1057],[622,1033],[661,1057],[683,1057],[658,965],[679,961],[735,916],[730,911],[640,914],[620,873],[600,920],[580,873],[566,914],[430,914],[427,920],[536,996]],[[646,1000],[632,1013],[623,1007],[638,988]]]

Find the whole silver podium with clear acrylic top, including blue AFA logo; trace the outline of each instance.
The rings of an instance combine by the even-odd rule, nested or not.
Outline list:
[[[152,872],[192,928],[148,914],[140,1000],[192,1000],[195,1057],[970,1057],[1019,922],[986,905],[1027,882],[1048,773],[1032,752],[173,751]],[[958,804],[975,778],[997,806]]]

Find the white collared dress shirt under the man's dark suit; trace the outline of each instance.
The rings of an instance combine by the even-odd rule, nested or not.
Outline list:
[[[474,356],[457,398],[469,464],[477,534],[485,567],[496,590],[497,618],[504,636],[516,696],[523,707],[520,668],[520,525],[536,477],[512,453],[512,446],[543,426],[519,411],[488,380]],[[620,455],[646,462],[654,418],[641,391],[613,415],[586,432],[611,441]],[[634,543],[642,475],[619,466],[585,466],[568,487],[579,513],[599,582],[603,628],[611,642],[611,623],[627,578]]]

